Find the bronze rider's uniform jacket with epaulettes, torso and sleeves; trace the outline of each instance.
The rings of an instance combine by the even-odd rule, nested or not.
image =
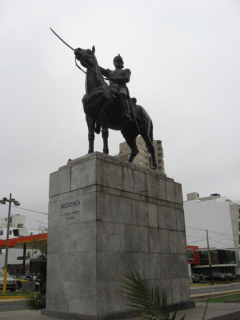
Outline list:
[[[116,78],[116,81],[110,81],[111,84],[117,84],[119,86],[118,92],[124,93],[127,95],[127,86],[126,83],[130,81],[131,71],[130,69],[119,69],[119,70],[110,70],[99,67],[101,74],[107,78]]]

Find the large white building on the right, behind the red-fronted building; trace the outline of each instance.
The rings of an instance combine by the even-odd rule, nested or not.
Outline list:
[[[228,267],[234,267],[236,275],[240,275],[240,204],[219,194],[200,198],[199,193],[193,192],[187,194],[183,208],[187,244],[196,245],[204,251],[203,248],[207,248],[205,230],[208,229],[209,246],[213,251],[216,248],[236,249],[235,263],[220,262],[215,267],[218,267],[219,272],[228,272],[225,271]]]

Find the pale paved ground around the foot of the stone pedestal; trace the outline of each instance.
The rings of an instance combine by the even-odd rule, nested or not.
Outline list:
[[[205,303],[196,303],[196,308],[181,310],[177,313],[176,320],[179,320],[186,314],[185,320],[202,320]],[[173,315],[173,312],[170,314]],[[41,316],[41,310],[35,311],[7,311],[0,312],[0,319],[6,320],[32,320],[32,319],[49,319],[57,320],[59,318],[52,318],[48,316]],[[85,320],[84,317],[78,319]],[[205,320],[234,320],[240,319],[240,304],[238,303],[210,303],[208,304]],[[130,319],[125,319],[130,320]]]

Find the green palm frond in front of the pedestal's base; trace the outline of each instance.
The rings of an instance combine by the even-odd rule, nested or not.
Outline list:
[[[175,320],[177,311],[175,311],[172,319],[169,318],[169,310],[167,307],[166,292],[163,291],[162,299],[160,299],[159,288],[156,286],[155,290],[149,288],[148,282],[135,269],[135,273],[130,270],[124,273],[126,280],[121,280],[119,289],[127,298],[127,305],[133,311],[133,318],[139,317],[151,320]],[[124,289],[124,290],[123,290]],[[185,315],[181,318],[183,320]]]

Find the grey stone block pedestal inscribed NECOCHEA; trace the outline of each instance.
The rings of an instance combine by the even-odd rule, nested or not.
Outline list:
[[[121,319],[119,289],[138,269],[166,290],[168,304],[191,308],[182,189],[179,183],[94,152],[50,174],[49,316]],[[69,313],[70,312],[70,313]]]

